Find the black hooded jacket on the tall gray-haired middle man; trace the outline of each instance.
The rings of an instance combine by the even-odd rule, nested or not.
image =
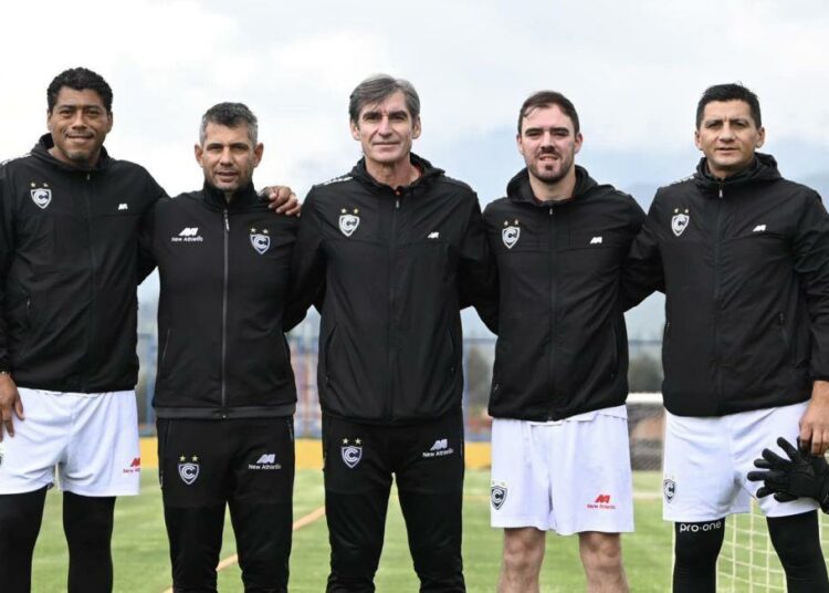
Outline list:
[[[494,267],[475,194],[411,159],[410,186],[378,184],[360,160],[305,200],[294,289],[322,299],[326,414],[405,424],[461,408],[461,303],[494,298]]]

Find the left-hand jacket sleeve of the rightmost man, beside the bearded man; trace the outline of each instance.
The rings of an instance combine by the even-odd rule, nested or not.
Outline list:
[[[657,194],[622,266],[620,298],[625,311],[638,305],[653,291],[665,290],[662,256],[659,251],[659,210]]]

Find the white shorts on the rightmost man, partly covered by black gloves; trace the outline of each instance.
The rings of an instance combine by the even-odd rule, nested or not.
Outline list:
[[[746,475],[765,447],[786,457],[777,437],[795,443],[807,402],[741,412],[714,418],[674,416],[665,412],[662,518],[674,522],[713,521],[749,512],[763,482]],[[766,517],[787,517],[818,508],[811,499],[777,502],[757,499]]]

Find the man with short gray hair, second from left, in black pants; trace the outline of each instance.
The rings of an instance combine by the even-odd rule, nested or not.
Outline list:
[[[241,103],[201,119],[201,190],[161,199],[141,237],[158,266],[159,477],[176,591],[216,591],[224,507],[246,591],[286,591],[296,388],[283,331],[298,221],[253,189],[263,145]]]

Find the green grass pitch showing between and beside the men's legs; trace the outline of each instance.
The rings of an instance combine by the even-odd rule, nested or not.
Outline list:
[[[115,506],[115,591],[159,593],[169,587],[167,537],[161,514],[161,497],[155,470],[141,476],[141,495],[124,497]],[[671,532],[661,520],[660,477],[657,472],[637,472],[634,486],[637,532],[623,540],[625,563],[632,591],[664,592],[670,589]],[[322,472],[300,470],[294,491],[294,520],[323,504]],[[494,591],[501,558],[501,532],[490,528],[490,475],[468,471],[464,500],[463,558],[470,592]],[[543,574],[543,591],[584,591],[585,580],[578,559],[576,537],[550,535]],[[228,520],[222,558],[234,552]],[[33,591],[57,592],[65,589],[66,544],[61,526],[61,495],[50,492],[43,528],[35,550]],[[325,589],[328,571],[328,532],[325,518],[294,532],[291,556],[292,592],[318,593]],[[386,545],[377,574],[380,592],[417,591],[411,569],[400,507],[392,498],[386,532]],[[219,590],[242,591],[240,572],[232,564],[219,573]]]

